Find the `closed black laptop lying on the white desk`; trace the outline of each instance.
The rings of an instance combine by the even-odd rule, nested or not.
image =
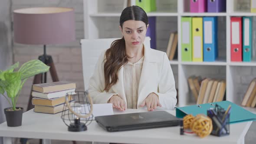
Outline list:
[[[143,124],[159,124],[165,122],[178,123],[179,118],[167,111],[148,111],[121,115],[105,115],[95,117],[95,120],[103,127],[122,127]],[[176,124],[177,125],[177,124]]]

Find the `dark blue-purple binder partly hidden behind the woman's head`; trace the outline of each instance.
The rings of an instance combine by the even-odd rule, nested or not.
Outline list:
[[[146,36],[150,37],[150,47],[152,49],[156,49],[156,17],[150,16],[148,17],[148,30]]]

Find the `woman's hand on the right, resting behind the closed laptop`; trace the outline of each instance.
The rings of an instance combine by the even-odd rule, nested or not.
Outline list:
[[[141,107],[144,107],[145,105],[147,105],[148,111],[154,111],[157,106],[162,107],[159,102],[158,95],[156,95],[155,93],[149,94],[148,97],[145,98],[144,101],[142,101]]]

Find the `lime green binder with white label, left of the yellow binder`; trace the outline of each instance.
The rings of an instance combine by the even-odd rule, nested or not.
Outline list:
[[[181,17],[181,61],[192,62],[192,17]]]

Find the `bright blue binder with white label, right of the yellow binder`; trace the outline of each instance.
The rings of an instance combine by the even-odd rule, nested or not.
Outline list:
[[[203,17],[203,61],[214,62],[218,57],[217,17]]]

